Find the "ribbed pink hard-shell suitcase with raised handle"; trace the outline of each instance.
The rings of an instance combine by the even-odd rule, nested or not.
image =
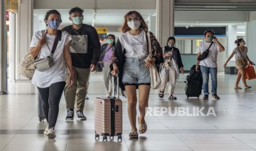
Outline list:
[[[117,88],[118,86],[119,84],[117,83]],[[118,136],[117,141],[122,141],[122,101],[119,99],[119,91],[117,92],[118,97],[116,98],[114,85],[112,87],[112,97],[97,97],[94,100],[95,140],[99,140],[101,135],[103,136],[103,141],[107,141],[107,136],[110,137],[110,140],[113,140],[114,136]]]

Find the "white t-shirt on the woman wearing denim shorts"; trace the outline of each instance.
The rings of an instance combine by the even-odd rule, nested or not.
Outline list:
[[[146,42],[146,32],[141,31],[140,34],[133,36],[128,32],[123,33],[119,37],[122,50],[126,49],[126,57],[142,57],[148,54],[148,43]]]

